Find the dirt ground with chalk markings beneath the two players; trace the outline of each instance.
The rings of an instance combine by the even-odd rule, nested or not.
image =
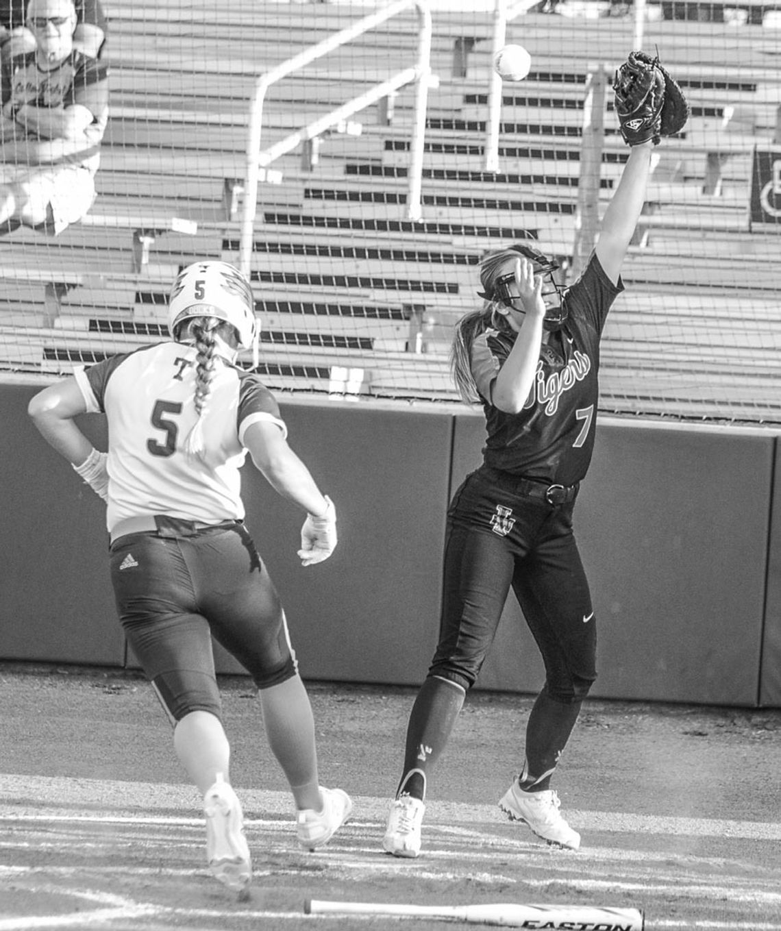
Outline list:
[[[249,902],[205,869],[197,793],[141,678],[0,666],[0,931],[443,926],[305,916],[307,897],[613,906],[645,911],[649,931],[781,931],[777,711],[588,702],[557,781],[583,834],[573,854],[496,807],[531,696],[475,693],[431,783],[424,855],[398,860],[380,841],[412,690],[310,685],[321,779],[355,809],[326,850],[308,854],[248,681],[222,686],[254,858]]]

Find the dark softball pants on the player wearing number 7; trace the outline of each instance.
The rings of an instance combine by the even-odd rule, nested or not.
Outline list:
[[[512,587],[543,656],[547,695],[563,703],[586,696],[597,677],[597,635],[572,507],[519,492],[512,476],[486,467],[465,479],[448,511],[430,676],[474,684]]]

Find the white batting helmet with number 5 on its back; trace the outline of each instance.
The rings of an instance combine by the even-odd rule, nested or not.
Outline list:
[[[227,262],[195,262],[183,268],[168,295],[168,330],[174,339],[186,320],[217,317],[236,330],[249,349],[258,328],[249,281]]]

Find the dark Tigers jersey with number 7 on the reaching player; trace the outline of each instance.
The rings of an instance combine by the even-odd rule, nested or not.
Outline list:
[[[569,316],[544,344],[529,398],[518,413],[494,407],[491,383],[516,334],[487,329],[472,347],[472,374],[486,418],[487,466],[549,484],[573,485],[586,475],[594,449],[599,401],[599,339],[613,301],[613,285],[596,254],[564,298]]]

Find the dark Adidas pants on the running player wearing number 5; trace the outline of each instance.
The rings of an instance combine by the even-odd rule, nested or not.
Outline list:
[[[212,636],[259,688],[295,675],[282,605],[242,524],[119,537],[111,577],[128,642],[175,720],[220,715]]]

